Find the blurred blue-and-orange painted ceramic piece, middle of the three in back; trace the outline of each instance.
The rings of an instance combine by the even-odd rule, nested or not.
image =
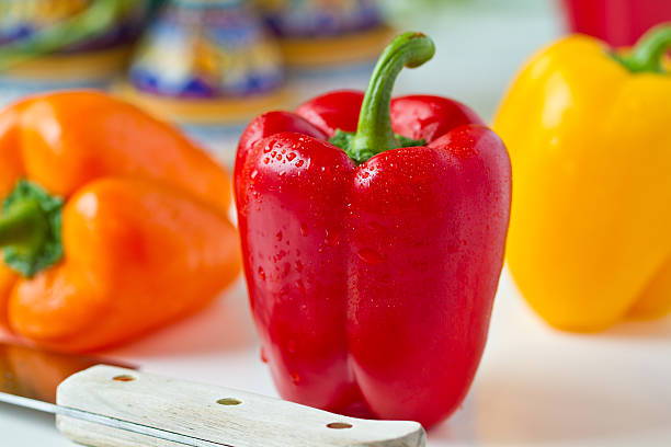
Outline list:
[[[173,0],[135,53],[122,91],[184,122],[236,122],[283,99],[282,57],[241,0]]]

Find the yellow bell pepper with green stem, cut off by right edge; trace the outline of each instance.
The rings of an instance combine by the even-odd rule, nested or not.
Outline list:
[[[526,65],[496,117],[515,176],[510,271],[553,326],[671,310],[670,44],[668,26],[627,54],[567,37]]]

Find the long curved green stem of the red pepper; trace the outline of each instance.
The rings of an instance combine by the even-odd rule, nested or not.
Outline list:
[[[397,36],[385,48],[368,82],[356,134],[345,149],[352,159],[361,163],[376,153],[402,146],[394,135],[389,115],[394,82],[403,67],[419,67],[434,53],[433,41],[414,32]]]

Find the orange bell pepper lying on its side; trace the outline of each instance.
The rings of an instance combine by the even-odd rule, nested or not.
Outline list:
[[[237,276],[227,173],[168,124],[76,91],[7,108],[0,129],[0,321],[13,332],[58,351],[109,347]]]

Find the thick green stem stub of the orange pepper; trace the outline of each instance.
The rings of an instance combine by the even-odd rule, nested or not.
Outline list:
[[[15,202],[0,215],[0,245],[26,252],[39,250],[47,238],[49,222],[39,203]]]

